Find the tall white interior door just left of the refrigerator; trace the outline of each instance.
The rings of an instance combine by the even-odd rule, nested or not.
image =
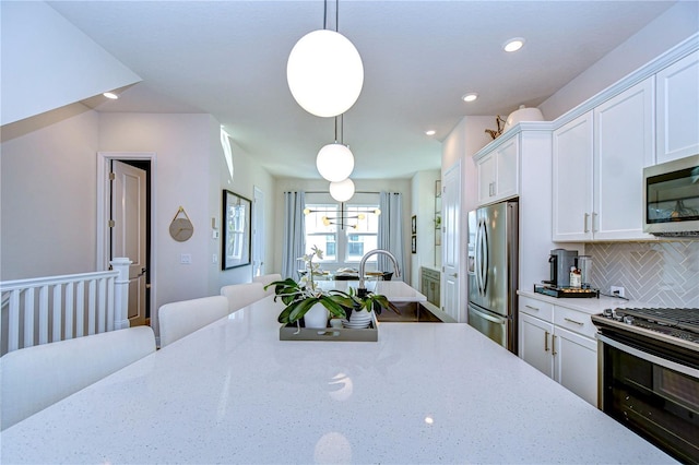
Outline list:
[[[459,302],[461,286],[459,276],[460,222],[461,222],[461,164],[445,174],[442,180],[442,310],[458,322],[463,322]]]

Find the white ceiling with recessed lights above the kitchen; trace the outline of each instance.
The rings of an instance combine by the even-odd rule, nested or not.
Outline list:
[[[272,175],[320,178],[316,155],[334,141],[335,122],[296,104],[286,60],[301,36],[323,27],[322,0],[48,3],[143,79],[98,111],[211,114]],[[340,1],[339,32],[365,69],[343,122],[352,178],[439,168],[440,141],[463,116],[540,105],[673,4]],[[517,36],[524,47],[502,51]],[[466,92],[479,98],[466,104]]]

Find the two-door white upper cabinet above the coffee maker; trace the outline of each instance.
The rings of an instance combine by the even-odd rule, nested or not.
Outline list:
[[[653,239],[642,231],[652,104],[649,78],[554,131],[554,241]]]

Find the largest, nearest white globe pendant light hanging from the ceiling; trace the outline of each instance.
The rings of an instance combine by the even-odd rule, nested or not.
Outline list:
[[[355,46],[337,32],[325,28],[328,0],[324,0],[323,28],[301,37],[288,56],[286,80],[292,95],[306,111],[334,117],[347,111],[364,85],[364,65]]]

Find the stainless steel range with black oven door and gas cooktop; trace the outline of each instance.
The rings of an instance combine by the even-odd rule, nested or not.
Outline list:
[[[699,464],[699,309],[606,309],[592,321],[602,410]]]

